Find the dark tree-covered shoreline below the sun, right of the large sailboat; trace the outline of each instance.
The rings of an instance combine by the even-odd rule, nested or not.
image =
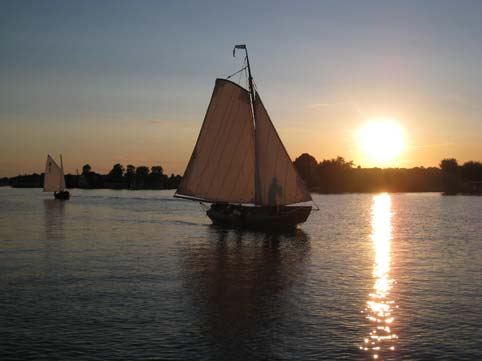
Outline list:
[[[312,192],[443,192],[481,193],[482,163],[458,165],[443,159],[439,167],[361,168],[343,157],[318,162],[304,153],[294,161],[298,173]]]

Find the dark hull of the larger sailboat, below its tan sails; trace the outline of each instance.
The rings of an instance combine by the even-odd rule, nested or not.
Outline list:
[[[306,221],[311,206],[246,207],[214,204],[206,212],[216,225],[253,229],[290,229]]]

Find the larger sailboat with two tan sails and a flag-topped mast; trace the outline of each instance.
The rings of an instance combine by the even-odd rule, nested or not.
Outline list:
[[[175,197],[211,203],[214,224],[242,228],[294,228],[312,201],[276,129],[253,77],[246,45],[249,90],[216,79],[203,125]],[[236,74],[236,73],[235,73]]]

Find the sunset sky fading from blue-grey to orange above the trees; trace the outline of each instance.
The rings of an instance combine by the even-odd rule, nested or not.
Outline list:
[[[216,78],[248,45],[292,159],[343,156],[396,120],[393,167],[482,160],[480,1],[0,1],[0,176],[62,153],[182,174]]]

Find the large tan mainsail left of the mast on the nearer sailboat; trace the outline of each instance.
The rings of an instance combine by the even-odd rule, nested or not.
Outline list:
[[[254,125],[249,92],[217,79],[177,195],[208,202],[253,203]]]

